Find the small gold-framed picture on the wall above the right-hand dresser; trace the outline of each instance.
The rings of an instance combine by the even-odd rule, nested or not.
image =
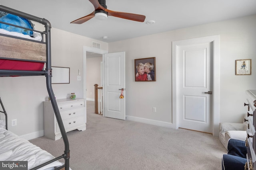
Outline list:
[[[236,60],[236,75],[251,75],[252,59]]]

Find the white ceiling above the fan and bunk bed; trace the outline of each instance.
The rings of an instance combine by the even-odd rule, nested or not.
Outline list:
[[[145,15],[145,22],[109,16],[71,24],[94,11],[88,0],[0,0],[0,4],[46,18],[54,28],[104,42],[256,14],[256,0],[106,0],[109,10]],[[148,25],[148,20],[156,22]]]

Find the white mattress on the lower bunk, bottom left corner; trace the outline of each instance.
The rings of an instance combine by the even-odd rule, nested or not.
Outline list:
[[[0,128],[0,160],[1,161],[28,161],[28,169],[34,168],[53,159],[52,154],[22,139],[14,133]],[[39,170],[52,170],[64,163],[55,161]]]

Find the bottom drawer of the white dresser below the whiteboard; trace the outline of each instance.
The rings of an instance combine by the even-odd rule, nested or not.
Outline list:
[[[79,125],[85,124],[84,121],[85,121],[84,116],[73,117],[66,121],[63,121],[63,125],[65,127],[66,132],[68,132],[69,131],[68,129],[75,128]],[[60,132],[59,126],[57,126],[57,132]]]

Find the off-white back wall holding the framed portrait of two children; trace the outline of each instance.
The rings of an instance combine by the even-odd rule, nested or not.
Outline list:
[[[128,119],[172,123],[172,41],[220,35],[220,122],[242,122],[245,90],[256,86],[255,29],[256,15],[109,43],[109,53],[126,51]],[[135,82],[134,59],[146,57],[156,57],[156,82]],[[235,75],[237,59],[252,59],[252,75]]]

